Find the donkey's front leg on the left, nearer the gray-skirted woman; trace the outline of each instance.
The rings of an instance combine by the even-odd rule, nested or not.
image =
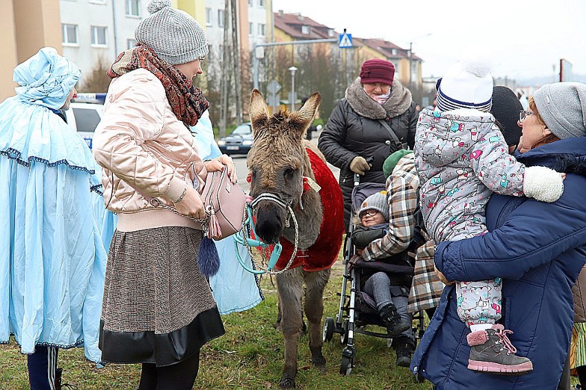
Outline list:
[[[281,330],[285,338],[285,367],[281,378],[281,389],[295,387],[297,374],[297,340],[301,334],[303,315],[301,295],[303,295],[303,271],[301,267],[276,275],[281,305]]]

